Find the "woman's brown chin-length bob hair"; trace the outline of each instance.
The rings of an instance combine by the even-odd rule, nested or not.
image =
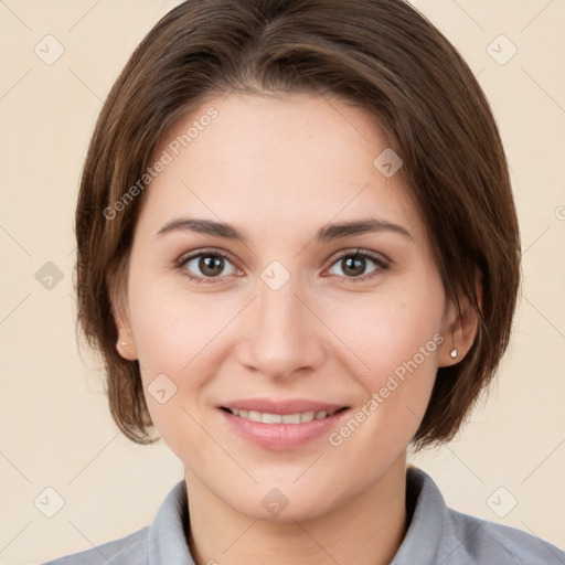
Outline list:
[[[403,0],[188,0],[135,50],[96,122],[75,218],[77,328],[102,354],[114,420],[135,443],[158,439],[139,362],[116,350],[113,312],[147,192],[130,189],[181,116],[232,92],[337,96],[373,116],[403,159],[446,296],[459,311],[466,299],[480,320],[466,358],[438,370],[412,444],[452,439],[509,343],[520,234],[484,94],[458,51]]]

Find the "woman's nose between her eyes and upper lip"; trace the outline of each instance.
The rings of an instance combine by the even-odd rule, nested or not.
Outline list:
[[[259,281],[247,322],[238,344],[239,362],[247,369],[281,380],[323,363],[328,351],[323,323],[297,294],[292,277],[278,290]]]

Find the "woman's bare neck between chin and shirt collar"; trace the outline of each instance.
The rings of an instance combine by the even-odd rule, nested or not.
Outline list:
[[[301,521],[249,518],[188,475],[189,545],[196,565],[355,563],[387,565],[407,530],[405,454],[386,473],[332,511]]]

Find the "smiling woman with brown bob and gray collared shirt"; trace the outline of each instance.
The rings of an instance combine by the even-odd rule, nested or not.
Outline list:
[[[491,381],[520,273],[488,103],[409,4],[180,4],[106,100],[76,235],[113,417],[185,472],[51,563],[565,563],[406,466]]]

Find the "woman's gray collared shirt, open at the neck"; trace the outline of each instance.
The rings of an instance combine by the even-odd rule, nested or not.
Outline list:
[[[533,534],[449,509],[422,469],[408,466],[406,477],[414,512],[391,565],[565,565],[565,552]],[[182,480],[151,525],[44,565],[194,565],[183,529],[189,524],[186,500]]]

